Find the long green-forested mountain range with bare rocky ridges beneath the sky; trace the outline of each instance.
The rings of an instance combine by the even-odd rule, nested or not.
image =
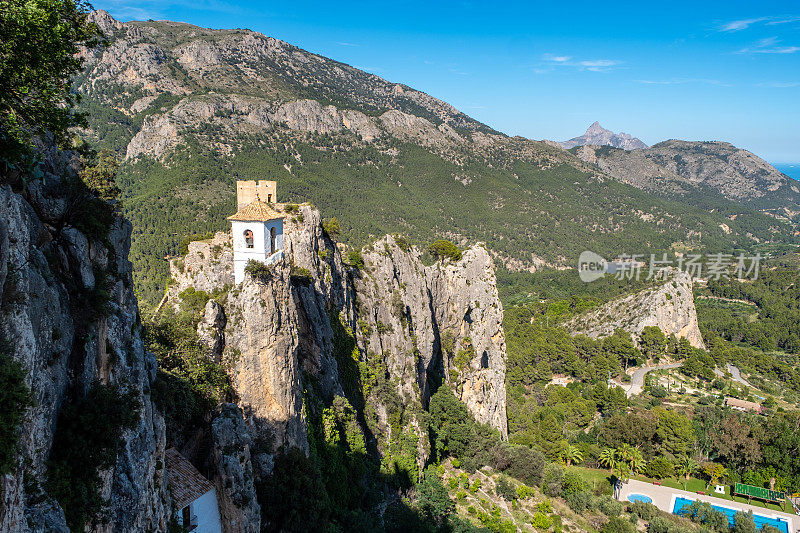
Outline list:
[[[74,86],[87,139],[123,161],[144,304],[160,298],[162,258],[182,238],[227,227],[237,177],[313,201],[348,245],[394,232],[480,240],[511,270],[570,266],[587,247],[614,256],[797,241],[793,182],[727,144],[565,150],[260,33],[91,17],[110,43],[85,51]]]

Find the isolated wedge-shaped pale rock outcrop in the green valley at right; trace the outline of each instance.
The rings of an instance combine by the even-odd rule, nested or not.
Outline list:
[[[618,328],[638,338],[645,327],[657,326],[667,336],[686,338],[695,348],[705,349],[697,324],[692,278],[686,272],[673,272],[652,288],[612,300],[565,325],[573,334],[594,339],[611,335]]]

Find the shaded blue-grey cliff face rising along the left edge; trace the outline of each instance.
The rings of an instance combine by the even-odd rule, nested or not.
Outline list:
[[[156,362],[140,338],[131,226],[115,217],[107,236],[74,226],[78,205],[65,176],[74,161],[45,154],[42,179],[0,186],[0,350],[18,361],[35,402],[11,472],[0,478],[0,529],[68,531],[45,492],[60,409],[95,384],[131,391],[141,405],[113,466],[101,473],[108,524],[97,531],[163,529],[165,429],[150,399]],[[31,482],[30,480],[34,480]]]

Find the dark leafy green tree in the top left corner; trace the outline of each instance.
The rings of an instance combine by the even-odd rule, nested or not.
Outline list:
[[[0,162],[7,168],[32,157],[32,139],[50,132],[65,144],[75,111],[72,76],[83,63],[80,47],[99,43],[83,0],[0,2]]]

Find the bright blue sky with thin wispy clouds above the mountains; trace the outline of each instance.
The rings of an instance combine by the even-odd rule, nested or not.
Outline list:
[[[446,100],[510,135],[599,120],[648,144],[800,162],[800,2],[98,0],[120,20],[249,28]]]

